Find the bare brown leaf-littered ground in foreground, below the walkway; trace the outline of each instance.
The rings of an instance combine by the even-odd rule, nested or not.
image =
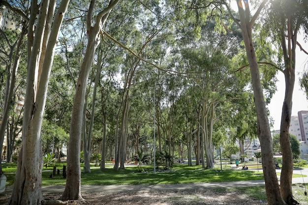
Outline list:
[[[59,199],[60,193],[43,194],[45,200]],[[67,205],[267,205],[242,192],[216,190],[83,193],[84,201],[69,201]],[[0,195],[0,205],[9,202],[10,195]]]

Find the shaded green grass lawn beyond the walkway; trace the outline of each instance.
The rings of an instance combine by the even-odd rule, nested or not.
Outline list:
[[[66,179],[62,177],[63,165],[65,164],[57,163],[57,169],[61,170],[61,174],[53,176],[53,178],[50,178],[53,167],[44,167],[42,172],[42,185],[65,185]],[[159,171],[157,169],[155,175],[153,173],[153,166],[142,166],[142,168],[145,172],[138,173],[136,166],[127,166],[125,167],[125,170],[114,171],[112,165],[106,165],[106,169],[104,171],[100,171],[99,167],[94,167],[94,165],[92,165],[91,173],[81,172],[81,184],[185,184],[263,179],[262,172],[251,170],[242,171],[225,168],[222,172],[220,172],[220,165],[217,165],[217,169],[205,170],[201,167],[201,165],[188,167],[185,164],[174,164],[168,171]],[[6,185],[13,185],[16,164],[2,164],[2,169],[7,176]],[[81,164],[81,169],[83,169],[83,164]],[[298,175],[297,177],[302,176]]]

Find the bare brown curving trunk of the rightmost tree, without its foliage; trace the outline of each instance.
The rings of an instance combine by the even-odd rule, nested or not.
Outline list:
[[[284,19],[281,25],[284,25]],[[293,198],[292,193],[292,174],[293,174],[293,154],[289,141],[289,128],[291,122],[291,112],[292,112],[292,98],[293,89],[295,82],[295,50],[297,44],[297,32],[298,28],[293,31],[293,26],[291,25],[291,16],[287,18],[287,30],[288,30],[288,43],[285,42],[284,29],[281,30],[281,44],[283,51],[283,58],[285,69],[283,71],[285,79],[285,92],[284,100],[281,112],[281,122],[280,122],[280,147],[282,152],[282,163],[281,177],[280,177],[280,192],[282,199],[286,204],[298,204],[298,202]],[[292,33],[293,32],[293,33]]]

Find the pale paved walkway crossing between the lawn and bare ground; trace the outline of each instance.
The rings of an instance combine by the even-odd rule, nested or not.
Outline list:
[[[259,170],[262,173],[262,170]],[[281,170],[276,170],[281,172]],[[295,169],[294,174],[306,175],[306,177],[296,177],[292,179],[292,183],[308,183],[308,168],[303,170]],[[280,182],[280,177],[278,176]],[[97,192],[159,192],[159,191],[188,191],[201,190],[205,188],[231,188],[231,187],[249,187],[264,186],[264,180],[250,181],[231,181],[231,182],[211,182],[211,183],[194,183],[194,184],[165,184],[165,185],[89,185],[81,186],[82,193]],[[43,186],[43,193],[62,193],[65,186]],[[5,192],[1,194],[10,194],[12,187],[7,187]]]

